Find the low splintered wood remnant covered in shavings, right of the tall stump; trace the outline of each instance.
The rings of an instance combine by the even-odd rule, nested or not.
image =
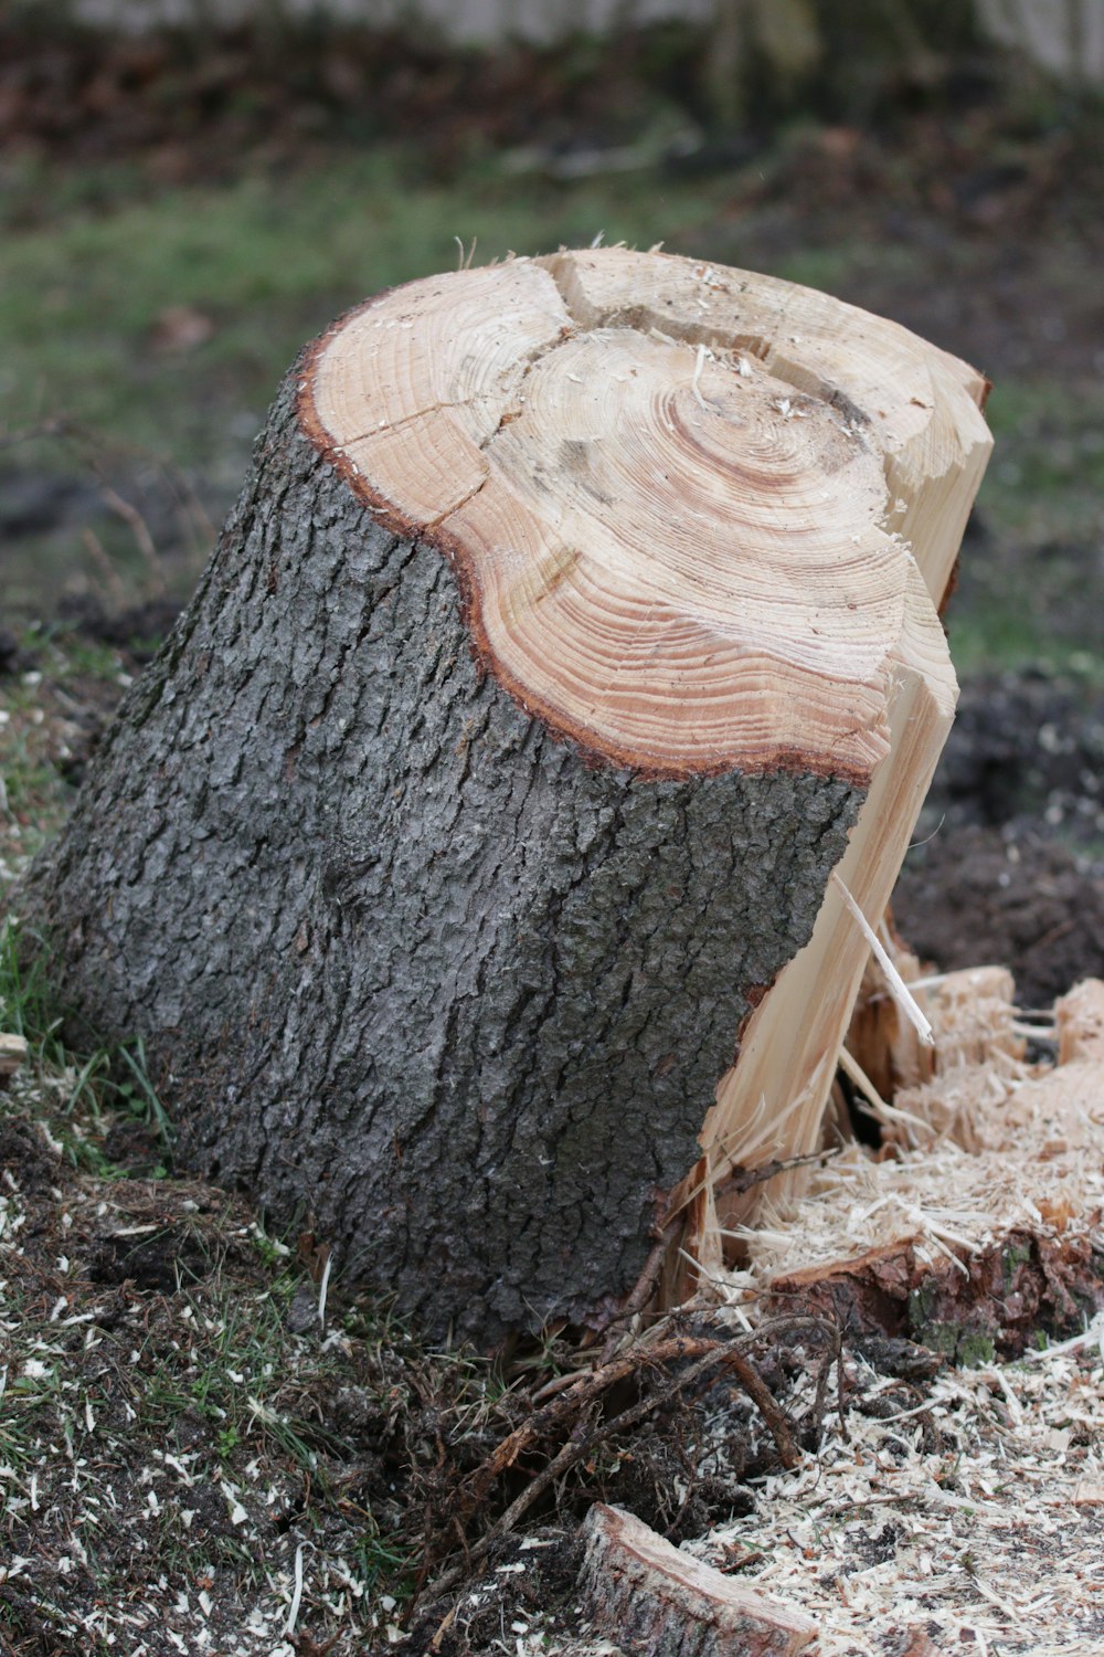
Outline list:
[[[917,978],[914,994],[930,1054],[892,1019],[892,1039],[876,1039],[869,1002],[852,1024],[859,1072],[889,1095],[871,1082],[859,1100],[881,1153],[852,1143],[803,1198],[761,1213],[740,1231],[745,1269],[718,1281],[737,1301],[796,1299],[957,1357],[1016,1355],[1104,1301],[1104,984],[1079,984],[1031,1027],[1000,968]],[[1056,1065],[1030,1060],[1028,1029]]]

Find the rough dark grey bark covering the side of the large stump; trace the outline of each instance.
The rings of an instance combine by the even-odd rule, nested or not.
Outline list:
[[[861,790],[553,739],[475,663],[449,563],[300,431],[296,373],[17,908],[79,1016],[144,1037],[185,1165],[310,1210],[432,1334],[593,1319]]]

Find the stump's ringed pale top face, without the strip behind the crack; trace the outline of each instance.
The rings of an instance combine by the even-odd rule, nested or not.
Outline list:
[[[554,272],[579,280],[515,260],[346,323],[308,388],[334,461],[450,557],[488,671],[584,751],[866,785],[919,601],[879,452],[732,341],[578,325]]]

